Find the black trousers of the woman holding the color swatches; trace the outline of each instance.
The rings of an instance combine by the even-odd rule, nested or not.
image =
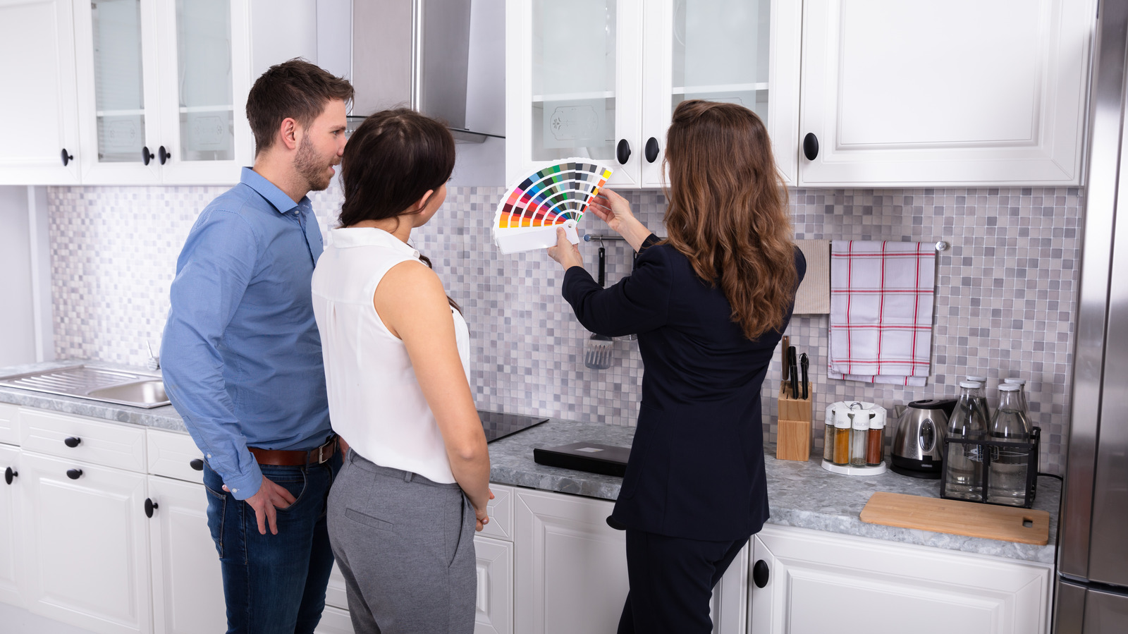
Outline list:
[[[713,587],[748,538],[702,541],[627,529],[627,592],[618,634],[710,634]]]

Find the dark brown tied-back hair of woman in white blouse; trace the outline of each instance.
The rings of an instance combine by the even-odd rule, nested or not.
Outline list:
[[[345,200],[337,221],[351,227],[423,209],[412,205],[455,170],[455,138],[442,123],[408,108],[378,112],[349,137],[341,157]],[[431,259],[420,255],[424,264]],[[461,308],[449,297],[455,309]]]

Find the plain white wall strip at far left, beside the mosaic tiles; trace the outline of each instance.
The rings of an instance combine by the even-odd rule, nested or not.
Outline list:
[[[28,187],[0,187],[0,368],[35,361],[27,193]]]

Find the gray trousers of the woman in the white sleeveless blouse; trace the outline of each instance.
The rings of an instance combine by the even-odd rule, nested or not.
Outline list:
[[[358,634],[469,634],[474,507],[458,484],[350,450],[328,502],[329,543]]]

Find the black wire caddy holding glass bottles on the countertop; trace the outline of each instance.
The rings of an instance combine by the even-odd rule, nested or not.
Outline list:
[[[990,440],[986,434],[979,438],[945,438],[944,439],[944,477],[940,481],[940,496],[948,500],[962,500],[966,502],[982,502],[986,504],[997,504],[1002,507],[1021,507],[1029,509],[1034,503],[1034,493],[1038,484],[1038,451],[1041,442],[1041,429],[1030,430],[1030,440],[1026,442],[1014,442],[1004,440]],[[946,466],[950,464],[955,452],[962,452],[969,458],[973,473],[970,474],[969,483],[961,485],[952,483],[949,477]],[[1024,477],[1025,495],[1021,497],[1007,499],[1007,501],[994,501],[992,495],[992,464],[999,466],[1014,466],[1025,464],[1024,473],[1019,477]],[[996,472],[998,469],[996,468]],[[995,474],[998,478],[998,473]]]

